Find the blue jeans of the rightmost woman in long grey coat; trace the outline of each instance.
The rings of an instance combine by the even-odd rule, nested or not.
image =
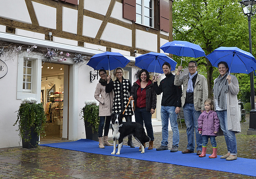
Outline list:
[[[236,135],[234,131],[228,130],[228,116],[227,116],[227,110],[223,111],[216,111],[218,118],[220,120],[220,128],[224,133],[224,137],[226,140],[228,152],[230,152],[231,155],[237,154],[237,148],[236,148]]]

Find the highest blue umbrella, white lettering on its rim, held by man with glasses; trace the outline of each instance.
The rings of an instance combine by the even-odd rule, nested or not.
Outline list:
[[[205,57],[204,50],[196,44],[174,40],[172,42],[167,42],[160,47],[165,53],[174,54],[176,56],[183,57]],[[182,65],[182,59],[181,64]]]

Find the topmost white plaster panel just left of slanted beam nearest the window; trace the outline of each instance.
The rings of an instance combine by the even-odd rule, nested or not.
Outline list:
[[[84,9],[106,15],[110,0],[84,0]]]

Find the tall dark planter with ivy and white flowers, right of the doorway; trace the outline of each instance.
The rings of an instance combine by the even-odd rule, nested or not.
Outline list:
[[[99,128],[99,106],[96,100],[87,100],[84,102],[85,106],[82,109],[86,139],[98,141]]]

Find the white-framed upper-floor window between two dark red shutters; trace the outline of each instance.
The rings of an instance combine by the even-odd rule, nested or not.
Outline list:
[[[136,23],[153,27],[154,0],[136,0]]]

